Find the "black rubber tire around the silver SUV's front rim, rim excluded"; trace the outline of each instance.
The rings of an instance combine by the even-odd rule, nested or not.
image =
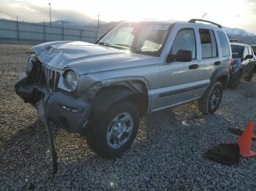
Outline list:
[[[118,148],[113,148],[110,146],[111,143],[110,140],[108,140],[107,135],[108,133],[110,133],[110,131],[112,132],[115,130],[116,125],[114,124],[117,124],[117,122],[113,122],[113,120],[115,119],[115,117],[118,116],[118,114],[129,114],[129,116],[132,118],[132,122],[130,122],[129,124],[131,126],[131,124],[133,123],[133,128],[131,133],[129,134],[129,137],[127,138],[127,142],[125,142],[125,144],[122,144]],[[97,113],[93,115],[93,118],[97,119]],[[133,104],[131,101],[120,101],[117,104],[111,106],[110,109],[108,109],[108,112],[105,112],[105,114],[103,114],[103,117],[101,119],[98,118],[97,120],[100,121],[92,122],[92,124],[89,126],[89,132],[86,136],[89,147],[102,157],[121,157],[121,155],[123,155],[123,153],[132,145],[132,142],[134,141],[138,132],[140,113],[137,106],[135,106],[135,104]],[[126,123],[127,122],[125,122],[125,124]],[[111,128],[111,130],[109,130],[109,128]],[[119,126],[118,128],[121,128],[121,126]],[[121,135],[121,137],[122,136],[123,134]],[[115,139],[117,139],[117,135]]]

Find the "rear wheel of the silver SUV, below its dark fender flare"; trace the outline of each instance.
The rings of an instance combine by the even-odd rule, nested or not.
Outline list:
[[[219,108],[220,102],[222,101],[222,91],[223,86],[221,82],[212,83],[206,90],[206,93],[204,93],[203,97],[197,101],[199,111],[203,114],[214,114],[214,112],[216,112]],[[214,105],[212,105],[211,99],[216,95],[219,97],[216,97],[217,100],[213,101]]]

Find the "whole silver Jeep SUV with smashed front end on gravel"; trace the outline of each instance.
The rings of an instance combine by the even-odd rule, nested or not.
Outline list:
[[[227,35],[208,20],[121,22],[96,44],[47,42],[32,50],[16,93],[86,136],[103,157],[131,146],[145,114],[195,100],[213,114],[230,78]]]

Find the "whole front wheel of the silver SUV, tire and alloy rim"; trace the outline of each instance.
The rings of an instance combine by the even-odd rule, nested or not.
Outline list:
[[[89,147],[102,157],[121,157],[137,135],[140,121],[138,108],[130,101],[121,101],[97,120],[100,122],[94,122],[89,127]]]

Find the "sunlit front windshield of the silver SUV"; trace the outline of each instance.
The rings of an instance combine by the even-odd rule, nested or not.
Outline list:
[[[120,23],[108,32],[98,44],[131,52],[159,55],[170,31],[170,25],[148,22]]]

